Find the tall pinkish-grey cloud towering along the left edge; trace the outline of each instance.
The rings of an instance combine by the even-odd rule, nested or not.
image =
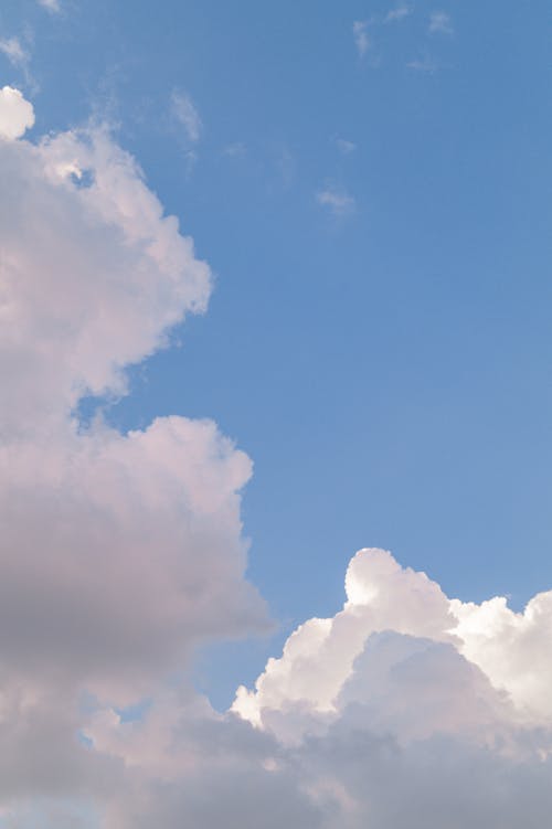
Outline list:
[[[85,394],[124,393],[126,368],[205,309],[210,268],[107,129],[32,144],[32,121],[4,87],[0,801],[14,826],[13,803],[115,779],[78,740],[83,694],[130,704],[199,642],[266,625],[244,578],[248,458],[210,421],[120,434],[75,414]]]

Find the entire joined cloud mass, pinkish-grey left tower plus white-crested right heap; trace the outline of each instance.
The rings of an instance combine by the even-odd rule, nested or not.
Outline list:
[[[251,463],[209,421],[74,413],[204,310],[210,269],[107,130],[31,144],[2,96],[0,826],[545,826],[552,593],[461,603],[364,550],[233,711],[181,679],[198,644],[266,625]]]

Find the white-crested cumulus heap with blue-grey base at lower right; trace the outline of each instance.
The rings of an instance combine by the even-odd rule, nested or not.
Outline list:
[[[233,705],[283,747],[319,826],[545,822],[552,592],[523,613],[461,603],[382,550],[354,556],[346,591]]]

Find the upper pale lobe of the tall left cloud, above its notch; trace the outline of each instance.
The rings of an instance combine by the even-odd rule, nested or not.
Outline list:
[[[210,273],[104,130],[4,145],[0,171],[1,425],[44,431],[84,393],[124,391],[124,366],[205,308]]]

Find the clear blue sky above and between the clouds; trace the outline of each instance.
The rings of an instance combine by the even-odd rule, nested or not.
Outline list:
[[[389,24],[370,0],[61,2],[0,12],[2,36],[34,32],[36,131],[117,121],[216,273],[109,417],[209,416],[253,457],[250,572],[279,637],[337,609],[365,545],[463,598],[550,587],[549,0],[418,0]],[[428,32],[437,10],[453,33]],[[275,647],[217,648],[199,681],[222,703]]]

